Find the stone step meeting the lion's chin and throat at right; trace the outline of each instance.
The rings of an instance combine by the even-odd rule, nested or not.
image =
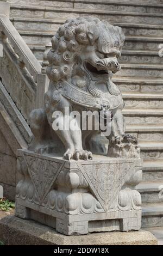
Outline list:
[[[163,80],[160,78],[113,76],[112,81],[117,84],[121,92],[163,93]]]

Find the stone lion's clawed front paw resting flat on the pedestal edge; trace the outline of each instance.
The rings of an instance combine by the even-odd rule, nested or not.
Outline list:
[[[88,159],[92,159],[92,153],[90,151],[86,151],[86,150],[71,150],[71,149],[67,149],[66,153],[64,154],[64,159],[66,160],[88,160]]]

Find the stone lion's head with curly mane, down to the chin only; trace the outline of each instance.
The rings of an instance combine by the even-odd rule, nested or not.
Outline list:
[[[52,38],[47,75],[53,81],[69,80],[84,64],[90,72],[116,72],[123,42],[122,29],[107,21],[93,17],[69,19]]]

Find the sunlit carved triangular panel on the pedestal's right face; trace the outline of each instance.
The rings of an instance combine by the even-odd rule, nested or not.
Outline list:
[[[133,163],[82,164],[80,170],[99,203],[108,211],[125,183]]]

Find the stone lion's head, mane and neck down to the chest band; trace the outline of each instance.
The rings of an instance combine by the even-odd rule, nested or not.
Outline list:
[[[94,102],[99,98],[99,103],[91,103],[91,106],[101,108],[103,103],[112,108],[118,106],[121,96],[118,100],[113,97],[110,100],[110,95],[120,95],[111,77],[121,68],[117,57],[121,54],[123,42],[122,29],[107,21],[93,17],[67,20],[53,36],[52,49],[48,52],[47,75],[51,84],[71,100],[76,98],[74,101],[78,102],[82,99],[82,105],[88,99]],[[71,93],[65,84],[68,88],[78,88],[78,91],[71,89]],[[81,93],[83,90],[87,96]]]

